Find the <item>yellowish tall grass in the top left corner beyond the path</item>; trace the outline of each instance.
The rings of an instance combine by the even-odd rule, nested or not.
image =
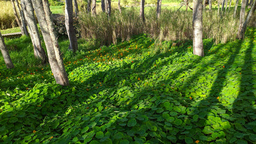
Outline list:
[[[12,3],[10,1],[0,1],[0,9],[0,30],[17,26]]]

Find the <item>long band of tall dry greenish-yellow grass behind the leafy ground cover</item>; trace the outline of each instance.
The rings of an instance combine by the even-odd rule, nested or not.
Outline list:
[[[217,10],[206,11],[203,14],[204,38],[213,38],[215,43],[232,41],[236,38],[238,18],[232,17],[232,10],[223,16],[222,20],[217,15]],[[122,14],[114,11],[111,18],[106,14],[92,17],[81,14],[82,38],[95,38],[101,44],[111,44],[118,39],[129,40],[134,34],[150,34],[154,39],[176,41],[192,39],[192,10],[177,12],[174,9],[162,9],[160,20],[156,19],[156,10],[146,9],[146,21],[139,18],[138,7],[122,10]]]

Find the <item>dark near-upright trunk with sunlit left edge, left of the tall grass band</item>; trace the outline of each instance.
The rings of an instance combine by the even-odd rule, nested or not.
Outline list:
[[[70,39],[70,46],[68,49],[74,52],[78,50],[78,39],[76,39],[76,33],[73,26],[73,4],[72,1],[66,0],[65,6],[65,26],[66,33],[68,33],[68,39]]]

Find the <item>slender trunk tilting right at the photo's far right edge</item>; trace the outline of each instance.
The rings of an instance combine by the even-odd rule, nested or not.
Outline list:
[[[256,9],[256,1],[254,1],[254,4],[252,5],[252,8],[250,9],[249,14],[246,17],[246,21],[244,22],[244,24],[242,25],[241,31],[238,31],[238,38],[239,39],[244,39],[244,34],[246,33],[246,28],[248,23],[250,22],[250,20],[252,19],[252,15],[254,14],[254,11]]]

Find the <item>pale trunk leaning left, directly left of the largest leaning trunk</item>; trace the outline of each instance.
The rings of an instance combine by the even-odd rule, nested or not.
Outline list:
[[[34,47],[34,57],[41,59],[42,64],[46,64],[46,52],[44,52],[41,45],[40,34],[38,31],[38,25],[36,25],[36,18],[34,17],[34,8],[32,2],[31,0],[21,0],[20,3],[22,4],[26,23],[28,23],[30,38]]]

